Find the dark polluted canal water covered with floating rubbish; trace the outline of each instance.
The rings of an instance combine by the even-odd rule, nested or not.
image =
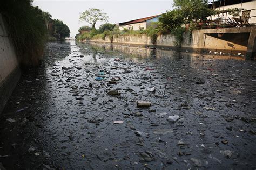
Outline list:
[[[255,169],[255,67],[243,58],[48,44],[1,115],[1,166]]]

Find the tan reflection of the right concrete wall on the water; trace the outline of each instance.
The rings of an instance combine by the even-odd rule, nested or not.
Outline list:
[[[79,44],[79,47],[88,48],[88,44]],[[152,49],[144,48],[142,46],[130,46],[130,45],[117,45],[117,44],[103,44],[103,43],[90,43],[90,48],[97,53],[97,51],[105,52],[107,54],[112,54],[113,56],[128,54],[130,57],[134,56],[136,58],[172,58],[173,60],[189,58],[190,60],[245,60],[245,58],[240,56],[223,56],[223,55],[207,55],[207,54],[197,54],[197,53],[184,53],[172,50],[163,49]],[[112,52],[112,53],[111,53]],[[114,52],[114,53],[113,53]],[[123,53],[123,54],[120,54]],[[171,60],[172,60],[171,59]]]

